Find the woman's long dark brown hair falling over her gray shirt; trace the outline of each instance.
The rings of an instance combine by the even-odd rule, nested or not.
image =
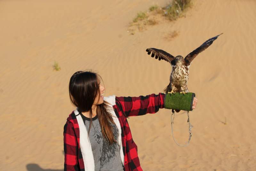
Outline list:
[[[101,77],[97,73],[92,71],[77,71],[73,74],[69,81],[69,97],[72,104],[74,104],[79,112],[88,112],[90,115],[90,126],[89,131],[92,125],[92,105],[96,97],[100,99],[100,81]],[[101,79],[102,80],[102,79]],[[101,126],[102,135],[109,141],[109,144],[113,142],[116,143],[116,140],[113,136],[112,126],[109,121],[113,124],[112,115],[107,112],[106,108],[109,104],[106,101],[103,101],[102,104],[97,105],[97,115]]]

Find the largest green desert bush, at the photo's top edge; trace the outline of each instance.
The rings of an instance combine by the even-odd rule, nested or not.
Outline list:
[[[175,20],[181,16],[182,12],[191,6],[191,0],[173,0],[171,4],[166,7],[165,16],[170,20]]]

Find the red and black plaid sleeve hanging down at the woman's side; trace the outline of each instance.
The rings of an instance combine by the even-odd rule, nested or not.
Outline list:
[[[64,125],[64,171],[78,171],[80,170],[78,164],[78,143],[76,140],[75,130],[73,124],[67,121]]]

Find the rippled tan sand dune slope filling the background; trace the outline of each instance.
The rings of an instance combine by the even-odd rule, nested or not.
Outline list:
[[[256,2],[197,0],[186,18],[127,33],[135,14],[154,3],[0,1],[1,171],[63,169],[63,126],[74,109],[68,97],[74,72],[97,71],[106,96],[158,93],[168,84],[171,67],[150,58],[146,48],[186,56],[222,32],[190,67],[188,88],[199,102],[190,113],[194,128],[188,147],[172,139],[170,110],[128,121],[144,170],[256,169]],[[179,36],[165,40],[174,30]],[[61,71],[52,71],[54,60]],[[188,137],[186,120],[185,113],[175,118],[180,143]]]

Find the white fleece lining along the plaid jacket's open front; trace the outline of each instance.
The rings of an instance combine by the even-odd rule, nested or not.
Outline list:
[[[116,116],[116,113],[112,107],[112,105],[116,105],[116,96],[108,96],[108,97],[104,97],[104,100],[107,101],[108,103],[110,103],[111,105],[108,106],[107,110],[109,113],[112,114],[112,118],[116,124],[116,127],[118,129],[118,145],[120,147],[120,157],[122,160],[122,163],[124,165],[124,152],[123,152],[123,146],[122,146],[122,136],[121,136],[121,125],[120,122]],[[92,153],[92,146],[91,143],[89,141],[88,137],[88,131],[86,130],[86,127],[84,125],[84,121],[81,117],[81,115],[78,115],[79,112],[76,110],[74,111],[75,115],[76,115],[76,120],[78,122],[78,126],[79,126],[79,136],[80,136],[80,148],[81,148],[81,152],[82,152],[82,156],[83,156],[83,160],[84,160],[84,169],[85,171],[94,171],[94,158],[93,158],[93,153]]]

